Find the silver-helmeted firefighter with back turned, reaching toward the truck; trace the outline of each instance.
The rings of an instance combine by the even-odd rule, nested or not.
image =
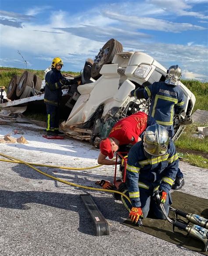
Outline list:
[[[165,82],[154,82],[130,93],[130,96],[138,99],[151,99],[148,114],[167,129],[170,138],[174,135],[174,115],[180,114],[185,107],[183,91],[178,87],[181,75],[182,72],[178,65],[170,66]],[[183,173],[178,169],[172,189],[179,190],[184,184]]]

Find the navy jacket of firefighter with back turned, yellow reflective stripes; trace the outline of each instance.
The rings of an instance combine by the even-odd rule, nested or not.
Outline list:
[[[148,114],[163,126],[172,126],[175,113],[180,113],[185,107],[183,91],[165,82],[154,82],[145,88],[131,91],[131,95],[138,99],[151,98]]]

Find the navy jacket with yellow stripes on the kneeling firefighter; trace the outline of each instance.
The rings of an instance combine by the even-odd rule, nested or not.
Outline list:
[[[140,207],[140,188],[169,192],[176,178],[179,160],[176,147],[169,142],[167,153],[160,157],[148,159],[144,155],[143,141],[136,143],[129,151],[126,168],[129,197],[133,207]]]

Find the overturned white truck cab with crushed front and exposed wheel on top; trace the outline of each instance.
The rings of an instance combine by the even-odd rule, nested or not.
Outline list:
[[[118,41],[109,40],[94,60],[91,78],[77,86],[78,92],[73,95],[75,105],[68,120],[61,124],[62,130],[68,136],[98,146],[119,119],[137,111],[148,113],[150,99],[136,99],[129,97],[129,93],[155,81],[165,81],[166,73],[167,69],[151,56],[137,51],[123,52]],[[174,117],[174,140],[192,122],[190,115],[196,101],[184,84],[180,82],[179,87],[185,95],[186,107]]]

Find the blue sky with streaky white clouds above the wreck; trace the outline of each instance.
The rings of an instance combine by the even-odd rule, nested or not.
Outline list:
[[[80,71],[111,38],[208,81],[208,0],[0,0],[0,66]]]

